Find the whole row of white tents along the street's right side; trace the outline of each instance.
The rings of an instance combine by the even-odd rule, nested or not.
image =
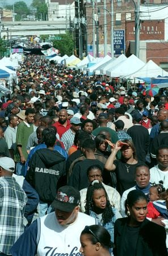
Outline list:
[[[107,75],[110,77],[122,77],[125,79],[136,77],[158,77],[168,76],[168,72],[164,71],[152,60],[148,63],[138,59],[135,55],[128,58],[125,55],[119,57],[105,56],[103,58],[94,58],[87,55],[85,59],[80,60],[74,55],[53,57],[51,60],[58,64],[65,64],[66,67],[74,67],[85,71],[91,75]]]

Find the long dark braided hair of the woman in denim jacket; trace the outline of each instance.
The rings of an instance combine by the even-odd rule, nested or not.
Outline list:
[[[103,225],[105,225],[108,222],[111,222],[112,217],[114,217],[114,212],[108,199],[106,189],[103,187],[103,184],[98,180],[94,180],[92,183],[90,183],[89,187],[87,188],[85,213],[87,215],[90,215],[91,210],[94,212],[93,193],[96,189],[103,189],[106,196],[106,208],[103,209],[102,213]]]

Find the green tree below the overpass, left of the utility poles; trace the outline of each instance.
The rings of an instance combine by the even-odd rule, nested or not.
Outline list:
[[[67,32],[66,34],[61,34],[59,36],[61,37],[61,40],[53,40],[53,47],[58,49],[61,55],[72,55],[74,49],[74,40],[72,35]]]

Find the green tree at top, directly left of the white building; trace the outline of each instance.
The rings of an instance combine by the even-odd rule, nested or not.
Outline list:
[[[47,20],[48,8],[45,0],[33,0],[31,6],[36,9],[37,19]]]

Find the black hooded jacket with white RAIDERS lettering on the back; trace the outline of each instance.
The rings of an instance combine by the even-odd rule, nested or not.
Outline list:
[[[51,204],[55,199],[57,183],[66,174],[65,162],[64,156],[49,148],[42,148],[33,154],[26,180],[44,203]]]

